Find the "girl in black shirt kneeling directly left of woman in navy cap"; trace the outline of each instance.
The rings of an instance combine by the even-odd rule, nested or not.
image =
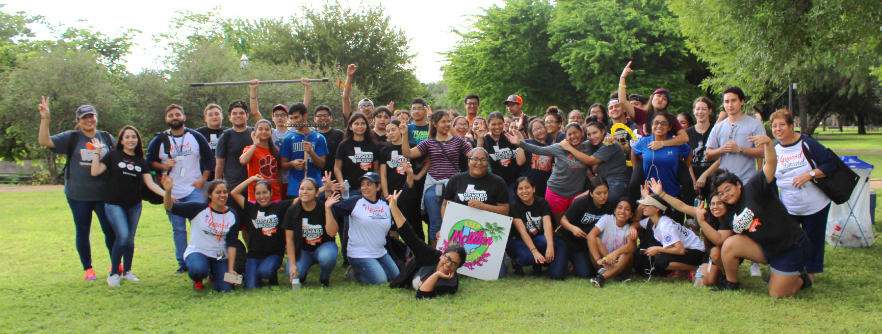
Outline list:
[[[300,278],[306,283],[307,271],[318,264],[318,283],[331,286],[331,272],[337,267],[337,235],[339,226],[333,218],[333,204],[340,202],[334,193],[336,182],[331,172],[325,172],[325,197],[318,197],[318,182],[307,177],[300,182],[295,203],[285,213],[285,238],[288,240],[288,278]],[[348,189],[344,189],[348,191]],[[325,199],[326,198],[326,199]],[[294,259],[295,265],[291,265]]]

